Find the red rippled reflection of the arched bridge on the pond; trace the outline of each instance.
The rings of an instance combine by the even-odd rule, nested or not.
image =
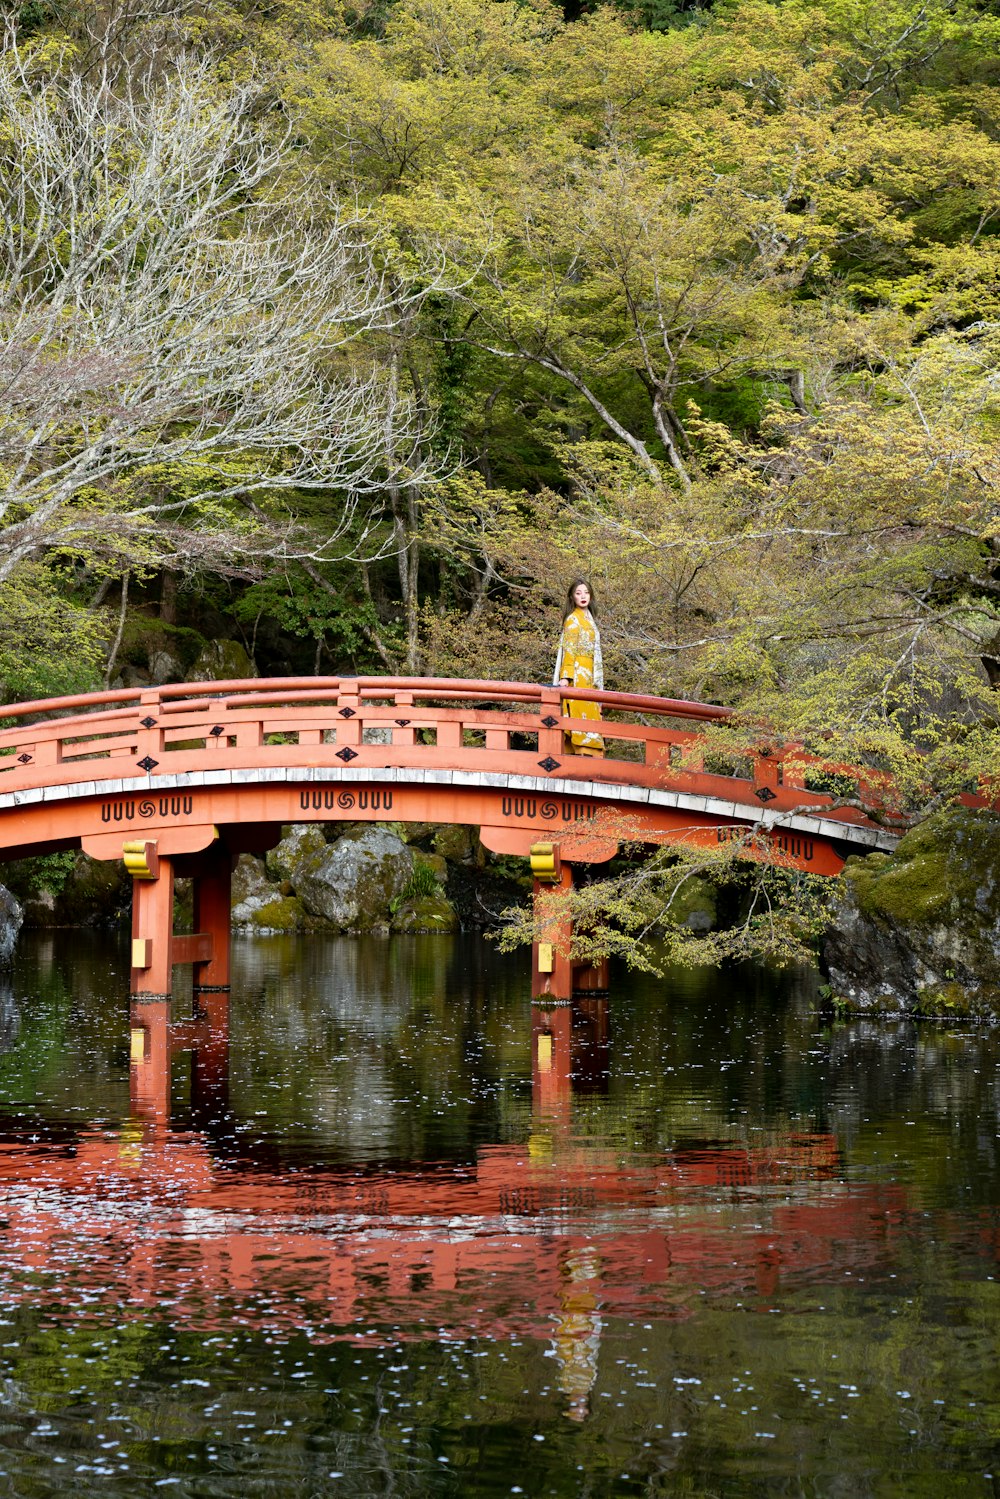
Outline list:
[[[0,1141],[3,1261],[27,1268],[33,1300],[30,1273],[69,1259],[94,1315],[165,1312],[205,1333],[367,1346],[528,1336],[549,1346],[574,1421],[588,1417],[609,1319],[685,1318],[703,1292],[766,1306],[781,1282],[885,1261],[901,1193],[849,1189],[832,1135],[636,1157],[574,1132],[574,1103],[607,1084],[612,1019],[603,995],[525,1010],[532,1108],[519,1142],[480,1145],[465,1165],[289,1168],[240,1144],[229,995],[199,995],[189,1021],[166,1001],[136,1003],[129,1123],[70,1142]],[[180,1057],[183,1129],[171,1124]],[[778,1198],[766,1225],[736,1211],[765,1198]]]

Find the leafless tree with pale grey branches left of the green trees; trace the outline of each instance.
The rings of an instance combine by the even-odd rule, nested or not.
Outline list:
[[[52,556],[334,556],[387,480],[421,481],[361,342],[400,303],[378,231],[264,102],[205,63],[123,94],[3,57],[0,583]],[[306,534],[288,505],[310,492]]]

